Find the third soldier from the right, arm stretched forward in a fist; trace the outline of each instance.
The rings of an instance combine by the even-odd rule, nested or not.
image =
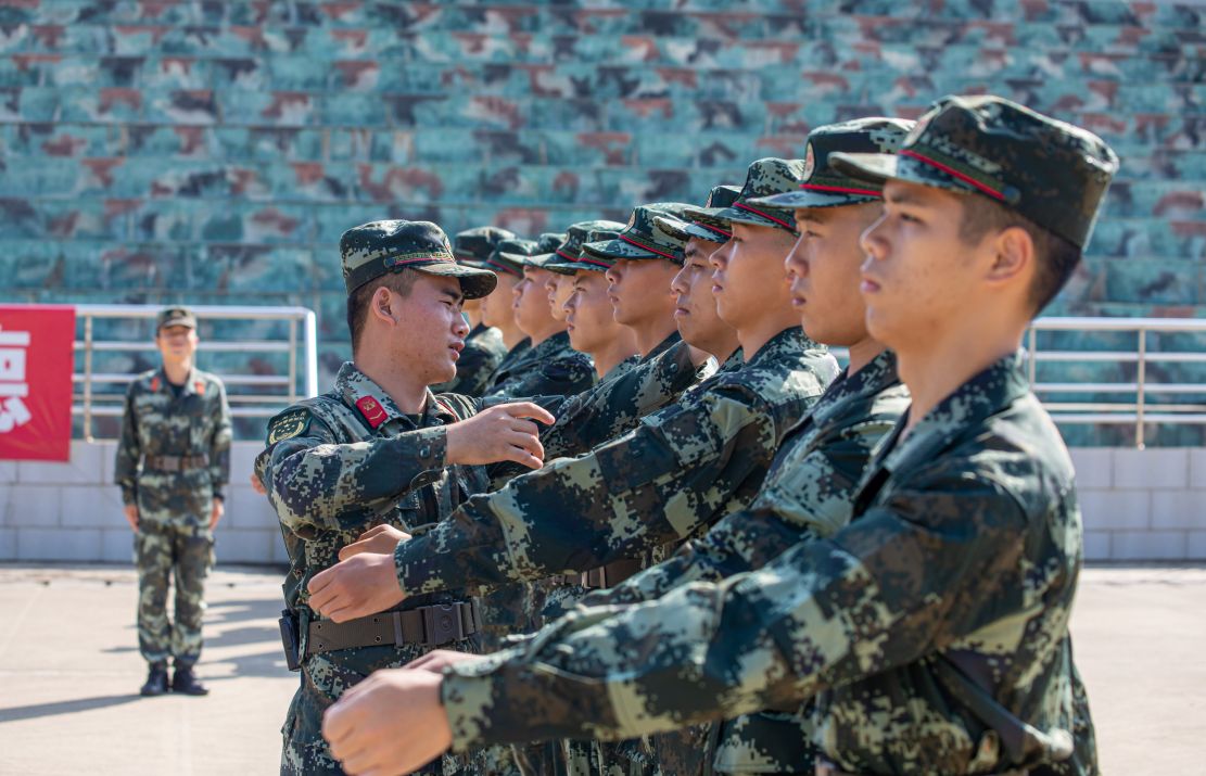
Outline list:
[[[781,435],[837,374],[833,357],[800,330],[783,282],[783,255],[796,236],[783,225],[790,216],[745,205],[795,189],[802,169],[797,160],[755,161],[733,207],[713,213],[734,229],[734,240],[710,260],[718,312],[737,329],[747,355],[740,369],[719,371],[586,455],[552,462],[474,499],[423,536],[400,541],[392,557],[349,558],[315,580],[320,611],[371,611],[379,601],[388,606],[444,589],[453,578],[497,584],[642,559],[748,504]],[[663,252],[645,233],[652,214],[638,208],[614,242]],[[570,501],[579,507],[567,530]]]

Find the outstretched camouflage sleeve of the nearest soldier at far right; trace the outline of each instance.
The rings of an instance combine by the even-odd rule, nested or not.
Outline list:
[[[511,652],[450,669],[455,747],[633,737],[794,707],[913,663],[982,624],[1024,524],[995,483],[949,477],[759,571],[578,610]]]

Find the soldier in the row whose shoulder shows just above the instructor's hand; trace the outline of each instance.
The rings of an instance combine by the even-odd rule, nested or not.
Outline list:
[[[502,243],[500,253],[523,268],[523,278],[515,284],[515,325],[527,335],[529,347],[509,360],[494,375],[487,396],[517,398],[537,395],[570,396],[595,384],[595,365],[585,353],[569,347],[564,316],[558,319],[549,308],[544,281],[549,271],[532,263],[540,243],[511,240]]]

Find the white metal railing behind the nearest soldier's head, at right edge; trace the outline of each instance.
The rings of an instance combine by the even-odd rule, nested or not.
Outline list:
[[[1131,333],[1134,349],[1043,349],[1041,333]],[[1206,424],[1206,404],[1201,401],[1153,402],[1153,396],[1206,398],[1206,382],[1154,382],[1153,364],[1206,365],[1206,348],[1190,351],[1153,349],[1152,334],[1190,334],[1206,336],[1206,321],[1196,318],[1040,318],[1026,334],[1030,384],[1043,399],[1043,406],[1058,423],[1126,424],[1135,427],[1135,446],[1144,447],[1151,424]],[[1134,364],[1135,378],[1125,382],[1040,382],[1038,366],[1043,363]],[[1054,401],[1049,395],[1130,394],[1134,400],[1119,401]]]

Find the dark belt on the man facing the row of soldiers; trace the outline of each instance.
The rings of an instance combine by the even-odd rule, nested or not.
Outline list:
[[[318,619],[310,623],[305,654],[335,652],[353,647],[400,646],[420,643],[438,647],[468,639],[481,630],[478,604],[437,604],[404,612],[381,612],[346,623]]]

